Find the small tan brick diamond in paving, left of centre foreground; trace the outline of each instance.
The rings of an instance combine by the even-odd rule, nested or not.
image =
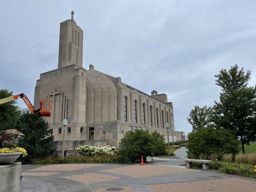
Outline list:
[[[62,177],[62,178],[70,179],[70,180],[76,180],[76,181],[79,181],[79,182],[85,183],[85,184],[106,182],[106,181],[121,179],[120,177],[98,174],[98,173],[84,173],[84,174],[71,175],[71,176]]]

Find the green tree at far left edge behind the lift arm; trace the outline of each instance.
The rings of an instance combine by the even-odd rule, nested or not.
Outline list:
[[[0,99],[12,96],[12,91],[0,89]],[[20,115],[19,108],[15,105],[16,101],[11,101],[0,105],[0,131],[14,129],[15,123]]]

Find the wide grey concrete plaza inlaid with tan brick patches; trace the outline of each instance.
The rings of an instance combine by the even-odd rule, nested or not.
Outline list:
[[[175,159],[174,159],[175,160]],[[23,165],[22,192],[255,192],[256,179],[146,164]]]

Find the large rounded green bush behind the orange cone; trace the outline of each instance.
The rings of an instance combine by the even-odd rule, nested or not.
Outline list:
[[[138,130],[126,132],[119,143],[119,156],[124,162],[139,162],[141,156],[165,155],[166,144],[164,137],[159,133],[149,133],[148,130]],[[163,154],[162,154],[163,153]]]

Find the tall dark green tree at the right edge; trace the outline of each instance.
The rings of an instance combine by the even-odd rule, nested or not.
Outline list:
[[[213,107],[213,122],[218,129],[231,130],[244,144],[256,141],[256,87],[248,87],[251,72],[238,65],[222,69],[216,84],[221,87],[219,102]]]

